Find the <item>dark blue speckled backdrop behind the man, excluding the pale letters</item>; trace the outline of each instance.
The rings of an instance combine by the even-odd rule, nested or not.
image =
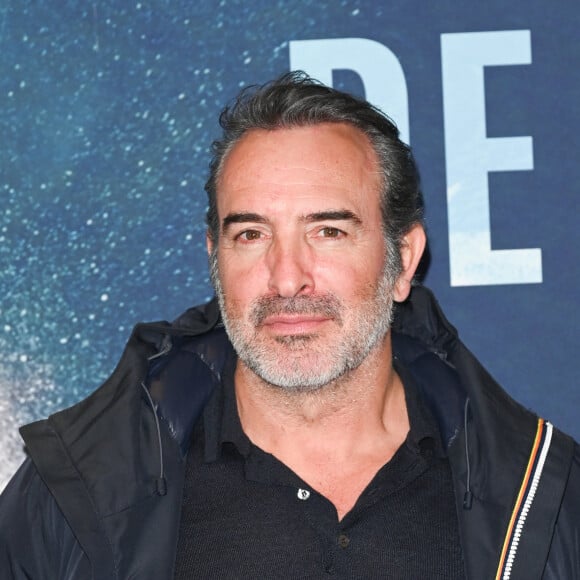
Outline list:
[[[288,70],[293,39],[371,38],[399,58],[431,235],[426,278],[505,387],[580,436],[580,6],[556,0],[4,0],[0,3],[0,433],[72,404],[134,323],[205,301],[203,193],[217,115]],[[540,285],[451,288],[440,34],[528,29],[532,66],[486,73],[488,133],[534,171],[490,176],[498,247],[541,247]],[[356,74],[334,84],[355,93]],[[506,194],[509,192],[509,195]]]

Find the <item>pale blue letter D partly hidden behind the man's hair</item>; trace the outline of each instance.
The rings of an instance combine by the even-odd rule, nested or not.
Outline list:
[[[303,70],[332,86],[332,71],[352,70],[361,78],[366,99],[396,123],[409,143],[407,82],[397,57],[368,38],[322,38],[290,41],[290,68]]]

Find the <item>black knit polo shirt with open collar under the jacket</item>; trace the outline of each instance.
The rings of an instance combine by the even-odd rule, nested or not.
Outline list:
[[[194,431],[176,579],[464,578],[449,463],[405,369],[407,438],[339,521],[329,500],[244,434],[234,367]]]

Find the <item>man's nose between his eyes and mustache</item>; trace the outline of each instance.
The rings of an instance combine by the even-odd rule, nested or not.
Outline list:
[[[311,250],[304,242],[274,242],[268,251],[269,290],[284,298],[314,291]]]

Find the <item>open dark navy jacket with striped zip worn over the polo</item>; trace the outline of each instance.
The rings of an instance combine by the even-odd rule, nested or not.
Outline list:
[[[138,325],[97,391],[23,427],[0,577],[171,579],[191,430],[230,349],[215,302]],[[467,577],[580,578],[574,441],[494,382],[424,288],[397,306],[393,350],[439,423]]]

